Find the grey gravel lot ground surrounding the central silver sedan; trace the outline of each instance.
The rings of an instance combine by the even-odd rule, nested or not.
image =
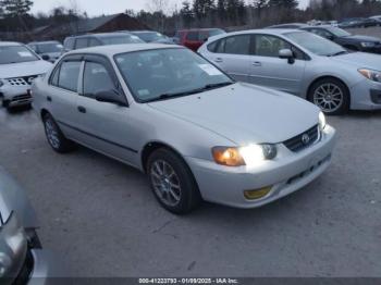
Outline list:
[[[381,276],[381,112],[329,117],[329,171],[265,208],[165,212],[139,172],[60,156],[33,111],[0,110],[0,164],[27,189],[42,245],[75,276]]]

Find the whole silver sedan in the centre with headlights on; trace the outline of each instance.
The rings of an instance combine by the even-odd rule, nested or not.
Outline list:
[[[75,141],[139,169],[174,213],[202,199],[269,203],[322,174],[334,146],[335,131],[316,106],[234,83],[177,46],[72,51],[33,95],[56,151]]]

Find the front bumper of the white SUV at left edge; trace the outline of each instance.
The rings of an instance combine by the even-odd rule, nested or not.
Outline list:
[[[32,96],[29,94],[30,85],[10,86],[4,85],[0,88],[2,100],[9,107],[25,106],[32,103]]]

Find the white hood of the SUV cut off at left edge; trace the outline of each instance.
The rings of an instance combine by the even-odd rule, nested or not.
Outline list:
[[[51,69],[50,62],[39,60],[30,62],[0,64],[0,78],[14,78],[45,74]]]

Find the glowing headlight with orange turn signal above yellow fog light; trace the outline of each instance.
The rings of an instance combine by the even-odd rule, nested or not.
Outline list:
[[[255,166],[265,160],[276,157],[274,145],[248,145],[246,147],[216,147],[212,148],[213,159],[225,166]]]

